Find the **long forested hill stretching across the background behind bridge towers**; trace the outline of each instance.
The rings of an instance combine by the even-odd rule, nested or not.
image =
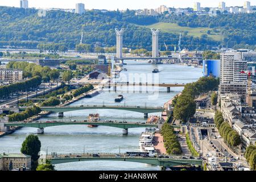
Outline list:
[[[242,21],[242,22],[241,22]],[[159,22],[175,23],[183,32],[181,47],[190,50],[204,50],[222,44],[233,47],[240,44],[255,45],[255,14],[220,15],[218,17],[196,15],[135,16],[134,11],[119,13],[111,11],[86,11],[72,14],[63,11],[47,11],[46,17],[38,16],[38,10],[0,7],[0,47],[16,46],[35,48],[42,43],[59,43],[70,49],[79,44],[81,32],[84,43],[92,46],[111,47],[115,45],[114,28],[125,28],[123,46],[151,49],[151,31],[145,27]],[[240,22],[240,23],[237,23]],[[219,24],[218,24],[219,23]],[[208,27],[209,31],[196,36],[188,34],[186,28]],[[184,30],[183,30],[184,28]],[[254,32],[254,33],[252,33]],[[224,36],[217,41],[210,36]],[[160,48],[164,43],[170,50],[179,41],[179,33],[161,31]]]

